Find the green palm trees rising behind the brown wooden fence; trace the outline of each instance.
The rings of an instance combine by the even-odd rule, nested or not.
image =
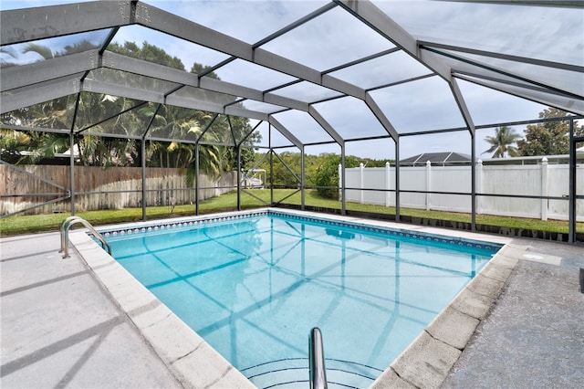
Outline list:
[[[26,45],[23,52],[35,52],[41,60],[65,56],[89,48],[94,48],[94,46],[88,41],[64,47],[63,51],[53,51],[50,47],[31,43]],[[162,66],[186,71],[180,58],[172,57],[162,48],[148,42],[143,42],[141,46],[134,42],[111,43],[108,49],[124,56],[140,58]],[[14,57],[14,53],[5,49],[3,49],[2,54]],[[9,64],[4,61],[3,66],[9,66]],[[198,63],[194,63],[191,68],[191,72],[195,74],[201,74],[207,70],[209,70],[208,67],[203,67]],[[129,77],[123,72],[109,72],[108,77],[110,82],[121,84],[133,80],[132,76]],[[209,72],[205,77],[219,79],[214,72]],[[165,85],[163,81],[157,79],[143,80],[143,82],[146,81],[147,83],[142,84],[141,88],[158,89]],[[223,105],[231,104],[236,99],[234,96],[204,89],[190,89],[189,93],[201,100]],[[73,123],[73,110],[75,110],[77,99],[79,102],[78,112],[76,122]],[[79,95],[71,95],[9,112],[3,115],[3,121],[30,127],[83,130],[76,136],[75,141],[80,152],[81,163],[103,167],[116,164],[140,165],[141,145],[140,142],[133,139],[99,137],[93,133],[141,136],[145,123],[151,121],[149,136],[177,141],[149,141],[146,145],[147,163],[151,166],[187,167],[189,172],[187,182],[191,184],[194,179],[194,145],[180,142],[180,140],[188,139],[202,142],[199,147],[199,166],[203,173],[214,177],[220,176],[224,171],[235,169],[237,166],[237,153],[234,147],[228,146],[229,144],[241,144],[240,157],[244,170],[255,158],[254,144],[261,140],[261,135],[259,132],[250,134],[252,128],[245,118],[232,117],[227,119],[222,115],[219,120],[214,121],[212,128],[203,134],[205,123],[211,121],[214,113],[170,105],[162,105],[157,109],[157,105],[152,103],[130,110],[139,102],[106,94],[82,92]],[[119,114],[120,112],[125,113]],[[155,112],[156,116],[152,117]],[[103,118],[112,119],[99,122]],[[98,122],[99,124],[95,124]],[[14,160],[19,155],[17,149],[32,150],[34,152],[27,157],[27,162],[32,163],[51,157],[55,152],[65,152],[69,147],[68,134],[37,132],[23,138],[15,132],[5,131],[2,137],[6,145],[13,147],[10,151],[3,152],[6,156],[10,155]],[[221,145],[208,144],[210,142],[221,143]],[[20,161],[23,161],[22,158]]]

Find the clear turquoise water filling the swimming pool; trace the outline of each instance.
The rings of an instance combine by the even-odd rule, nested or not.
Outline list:
[[[113,257],[259,387],[367,387],[498,247],[269,213],[108,237]]]

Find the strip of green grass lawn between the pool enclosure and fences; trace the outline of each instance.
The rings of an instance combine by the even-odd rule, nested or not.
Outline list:
[[[241,195],[241,205],[243,209],[266,206],[255,197],[259,197],[266,203],[270,200],[269,189],[255,189],[248,193],[243,192]],[[255,196],[255,197],[254,197]],[[289,196],[289,197],[287,197]],[[300,205],[300,192],[292,189],[275,189],[274,200],[278,202],[286,198],[283,203]],[[305,204],[323,208],[340,209],[341,203],[337,200],[323,199],[317,195],[314,190],[306,192]],[[199,205],[200,214],[210,214],[216,212],[232,211],[237,208],[237,194],[232,192],[221,195],[201,202]],[[370,212],[376,214],[394,215],[395,207],[383,205],[362,205],[357,203],[347,203],[346,208],[352,211]],[[177,205],[166,206],[149,206],[146,209],[146,216],[149,220],[161,219],[176,216],[193,216],[195,213],[194,205]],[[122,222],[140,221],[142,219],[141,208],[110,209],[101,211],[79,212],[76,214],[93,226],[106,224],[116,224]],[[470,223],[469,214],[460,214],[454,212],[426,211],[423,209],[401,208],[402,216],[425,217],[454,222]],[[34,216],[10,216],[0,219],[0,236],[13,236],[19,234],[29,234],[36,232],[57,231],[61,222],[68,214],[49,214]],[[534,229],[550,232],[568,233],[568,222],[558,220],[542,221],[537,219],[526,219],[506,216],[488,216],[477,215],[476,223],[489,226],[508,226],[524,229]],[[577,230],[584,231],[584,223],[577,223]]]

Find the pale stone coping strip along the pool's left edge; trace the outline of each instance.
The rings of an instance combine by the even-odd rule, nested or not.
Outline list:
[[[93,270],[120,310],[139,329],[169,370],[186,388],[255,388],[244,374],[188,327],[134,279],[85,232],[73,232],[70,243]],[[130,278],[128,278],[130,276]],[[196,369],[193,368],[196,366]]]

